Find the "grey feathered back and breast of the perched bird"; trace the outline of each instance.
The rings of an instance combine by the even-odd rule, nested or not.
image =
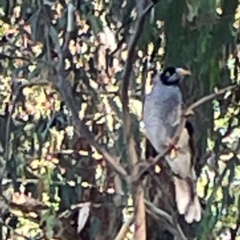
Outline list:
[[[155,76],[152,91],[145,97],[143,122],[147,138],[160,153],[181,122],[182,93],[178,86],[165,86],[159,77]]]

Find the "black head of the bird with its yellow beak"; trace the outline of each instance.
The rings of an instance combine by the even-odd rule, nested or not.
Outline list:
[[[180,80],[190,72],[182,68],[167,67],[160,74],[160,80],[164,85],[178,85]]]

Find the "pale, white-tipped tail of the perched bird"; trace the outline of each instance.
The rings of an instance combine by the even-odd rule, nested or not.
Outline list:
[[[175,201],[179,214],[184,214],[187,223],[201,220],[201,205],[197,194],[187,180],[174,177]]]

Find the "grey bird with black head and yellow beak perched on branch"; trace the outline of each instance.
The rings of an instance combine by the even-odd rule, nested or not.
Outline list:
[[[179,83],[185,75],[190,75],[190,72],[175,67],[167,67],[155,75],[152,90],[145,97],[143,123],[146,136],[158,153],[163,153],[169,146],[174,147],[165,158],[174,174],[175,201],[178,212],[185,215],[188,223],[192,223],[201,220],[189,144],[192,125],[185,126],[177,145],[174,146],[172,141],[182,118]]]

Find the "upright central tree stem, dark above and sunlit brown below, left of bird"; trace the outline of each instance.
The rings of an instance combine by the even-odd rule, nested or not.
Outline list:
[[[142,0],[141,3],[145,3],[145,0]],[[143,4],[144,5],[144,4]],[[135,34],[132,36],[128,48],[128,55],[126,64],[123,71],[123,82],[122,82],[122,91],[121,91],[121,101],[123,106],[123,122],[124,122],[124,137],[125,145],[127,146],[127,156],[128,162],[131,166],[131,175],[136,176],[138,173],[138,168],[134,167],[137,165],[138,156],[135,149],[135,140],[132,133],[132,122],[129,112],[129,97],[128,97],[128,88],[131,80],[132,69],[134,65],[136,46],[138,40],[142,34],[144,28],[144,22],[147,14],[150,12],[154,3],[151,3],[140,12],[139,18],[137,19]],[[144,191],[141,183],[135,182],[132,185],[132,195],[134,202],[134,239],[145,240],[146,239],[146,221],[145,221],[145,205],[144,205]]]

